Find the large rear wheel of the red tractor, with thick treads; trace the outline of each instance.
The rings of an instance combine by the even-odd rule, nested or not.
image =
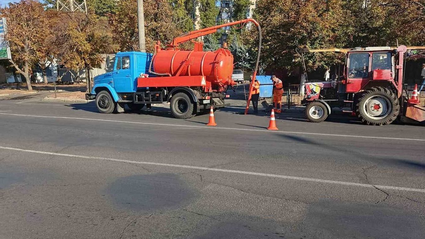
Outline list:
[[[355,102],[356,115],[367,125],[389,125],[400,112],[397,95],[385,87],[372,87]]]

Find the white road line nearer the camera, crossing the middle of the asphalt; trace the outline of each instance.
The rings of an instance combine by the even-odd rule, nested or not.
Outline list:
[[[334,181],[334,180],[326,180],[326,179],[303,178],[303,177],[286,176],[286,175],[279,175],[279,174],[263,174],[263,173],[230,170],[230,169],[221,169],[221,168],[207,168],[207,167],[158,163],[158,162],[141,162],[141,161],[126,160],[126,159],[113,159],[113,158],[104,158],[104,157],[95,157],[95,156],[82,156],[82,155],[74,155],[74,154],[59,154],[59,153],[36,151],[36,150],[29,150],[29,149],[22,149],[22,148],[10,148],[10,147],[3,147],[3,146],[0,146],[0,148],[6,149],[6,150],[28,152],[28,153],[49,154],[49,155],[66,156],[66,157],[74,157],[74,158],[82,158],[82,159],[99,159],[99,160],[108,160],[108,161],[114,161],[114,162],[126,162],[126,163],[157,165],[157,166],[167,166],[167,167],[176,167],[176,168],[191,168],[191,169],[196,169],[196,170],[217,171],[217,172],[226,172],[226,173],[233,173],[233,174],[248,174],[248,175],[256,175],[256,176],[281,178],[281,179],[292,179],[292,180],[320,182],[320,183],[332,183],[332,184],[340,184],[340,185],[347,185],[347,186],[358,186],[358,187],[365,187],[365,188],[375,188],[376,187],[376,188],[381,188],[381,189],[392,189],[392,190],[399,190],[399,191],[412,191],[412,192],[425,193],[425,189],[419,189],[419,188],[402,188],[402,187],[385,186],[385,185],[363,184],[363,183],[357,183],[357,182],[342,182],[342,181]]]

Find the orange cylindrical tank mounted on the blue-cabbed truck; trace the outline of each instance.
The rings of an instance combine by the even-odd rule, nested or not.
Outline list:
[[[233,85],[233,55],[227,48],[212,51],[157,49],[153,71],[172,76],[205,76],[212,85]]]

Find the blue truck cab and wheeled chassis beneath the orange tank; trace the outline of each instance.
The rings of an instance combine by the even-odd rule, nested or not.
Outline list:
[[[118,52],[114,57],[108,57],[107,72],[94,77],[93,89],[86,94],[86,99],[95,99],[98,111],[103,114],[124,112],[125,105],[137,111],[145,106],[150,108],[152,104],[170,102],[173,116],[179,119],[209,112],[210,106],[222,108],[229,105],[224,103],[226,96],[221,92],[205,94],[201,87],[179,85],[177,78],[172,84],[159,86],[156,83],[167,77],[149,74],[152,57],[152,54],[139,51]],[[198,78],[202,80],[202,77]],[[141,87],[140,83],[147,81],[152,84]]]

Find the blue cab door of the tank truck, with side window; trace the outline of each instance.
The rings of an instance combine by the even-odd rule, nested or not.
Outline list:
[[[113,88],[116,92],[133,92],[132,66],[134,63],[129,55],[117,55],[115,72],[113,74]]]

